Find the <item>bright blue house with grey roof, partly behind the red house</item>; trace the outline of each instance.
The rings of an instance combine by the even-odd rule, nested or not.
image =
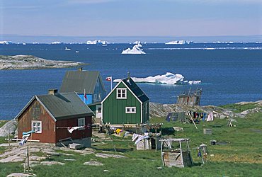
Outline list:
[[[99,103],[106,97],[106,89],[99,72],[82,69],[68,71],[64,75],[60,92],[75,92],[86,105]]]

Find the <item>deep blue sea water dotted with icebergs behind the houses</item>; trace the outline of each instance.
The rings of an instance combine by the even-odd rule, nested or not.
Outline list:
[[[201,84],[138,84],[156,103],[176,103],[183,91],[203,90],[200,105],[224,105],[262,99],[262,43],[142,44],[146,55],[121,55],[132,44],[0,45],[0,55],[35,55],[45,59],[84,62],[99,71],[108,93],[113,79],[145,78],[171,72]],[[71,50],[64,50],[65,47]],[[79,52],[75,52],[75,51]],[[59,89],[68,69],[1,70],[0,119],[14,118],[34,95]],[[113,83],[115,86],[117,83]]]

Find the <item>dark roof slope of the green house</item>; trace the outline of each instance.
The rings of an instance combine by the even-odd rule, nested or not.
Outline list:
[[[142,91],[139,86],[137,86],[137,84],[135,84],[135,81],[133,81],[130,78],[130,81],[128,81],[128,79],[123,79],[122,80],[125,85],[128,86],[128,88],[135,94],[135,96],[137,96],[137,98],[139,98],[139,100],[144,103],[145,101],[148,101],[149,98],[147,97],[147,95],[144,93],[144,91]]]

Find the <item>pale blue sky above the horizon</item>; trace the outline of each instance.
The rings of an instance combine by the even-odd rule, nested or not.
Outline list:
[[[0,35],[262,35],[262,1],[0,0]]]

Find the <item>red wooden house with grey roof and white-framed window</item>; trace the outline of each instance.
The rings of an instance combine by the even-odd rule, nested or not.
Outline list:
[[[91,120],[93,112],[76,93],[57,93],[50,90],[48,95],[33,96],[16,119],[18,138],[23,132],[35,130],[32,139],[59,145],[64,139],[72,138],[85,147],[91,145]],[[70,133],[67,127],[85,126]]]

